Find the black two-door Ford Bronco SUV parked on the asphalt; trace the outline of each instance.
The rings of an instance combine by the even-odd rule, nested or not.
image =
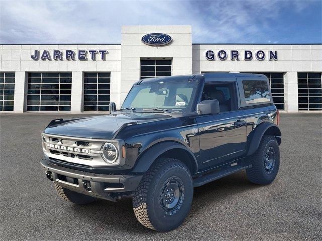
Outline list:
[[[273,182],[278,124],[264,75],[146,78],[109,115],[51,121],[41,165],[62,199],[131,197],[141,224],[169,231],[188,214],[194,187],[244,169],[252,183]]]

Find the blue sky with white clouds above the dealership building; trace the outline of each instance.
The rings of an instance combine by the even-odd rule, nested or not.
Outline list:
[[[322,0],[0,0],[0,43],[120,43],[122,25],[192,25],[193,43],[321,43]]]

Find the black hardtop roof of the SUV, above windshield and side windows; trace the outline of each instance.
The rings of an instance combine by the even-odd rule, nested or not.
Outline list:
[[[144,78],[141,81],[136,82],[135,84],[143,84],[148,82],[160,82],[160,81],[187,81],[188,79],[192,80],[198,76],[203,76],[205,81],[222,81],[224,79],[231,79],[234,77],[261,77],[266,78],[263,74],[257,73],[226,73],[226,72],[215,72],[215,73],[201,73],[201,74],[192,74],[192,75],[178,75],[178,76],[169,76],[169,77],[158,77],[158,78]],[[135,85],[134,84],[134,85]]]

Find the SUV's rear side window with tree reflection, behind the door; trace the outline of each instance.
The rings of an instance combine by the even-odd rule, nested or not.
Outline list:
[[[243,81],[243,89],[246,104],[271,100],[266,81]]]

